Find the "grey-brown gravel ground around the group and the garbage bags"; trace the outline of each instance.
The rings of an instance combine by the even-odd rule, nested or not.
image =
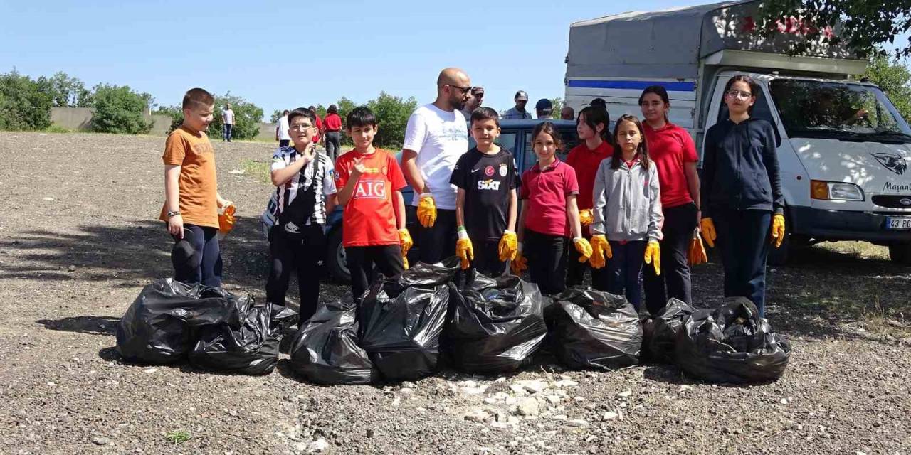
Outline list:
[[[313,386],[286,356],[265,377],[122,363],[119,317],[170,273],[156,221],[163,145],[0,133],[0,452],[911,453],[911,268],[857,243],[807,248],[770,270],[767,316],[793,355],[783,379],[762,386],[712,386],[669,366],[563,371],[547,359],[506,378],[447,370],[375,387]],[[230,171],[272,147],[214,146],[220,192],[240,216],[222,243],[226,283],[262,298],[257,217],[270,187]],[[717,261],[694,273],[697,304],[717,304]],[[522,399],[537,415],[517,415]]]

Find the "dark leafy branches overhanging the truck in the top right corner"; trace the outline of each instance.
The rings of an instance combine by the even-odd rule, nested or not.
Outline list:
[[[757,32],[774,35],[793,31],[806,38],[793,45],[794,54],[819,45],[844,41],[862,56],[885,55],[886,43],[911,30],[911,2],[907,0],[765,0],[760,5]],[[840,24],[839,35],[832,25]],[[896,56],[911,56],[911,37],[898,44]]]

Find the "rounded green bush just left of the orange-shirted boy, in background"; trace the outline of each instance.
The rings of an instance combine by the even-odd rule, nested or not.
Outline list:
[[[143,113],[148,106],[147,95],[138,94],[128,86],[95,86],[95,112],[92,114],[92,131],[115,134],[145,134],[153,122]]]

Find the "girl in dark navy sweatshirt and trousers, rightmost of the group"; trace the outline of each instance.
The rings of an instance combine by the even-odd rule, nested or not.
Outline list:
[[[750,298],[762,316],[765,259],[784,238],[784,197],[774,126],[750,116],[759,90],[745,75],[724,87],[728,118],[705,134],[700,226],[710,247],[717,233],[724,297]]]

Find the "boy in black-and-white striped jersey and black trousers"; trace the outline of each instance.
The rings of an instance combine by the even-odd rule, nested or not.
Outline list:
[[[326,215],[336,205],[333,163],[316,151],[312,112],[294,109],[287,117],[293,147],[272,157],[271,179],[278,196],[278,216],[269,231],[266,301],[284,305],[292,270],[297,270],[300,320],[310,319],[320,298],[321,254],[326,248]]]

